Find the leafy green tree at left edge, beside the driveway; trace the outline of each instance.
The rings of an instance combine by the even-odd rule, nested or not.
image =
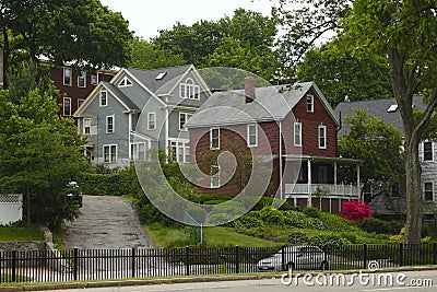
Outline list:
[[[22,70],[33,72],[29,68],[32,65]],[[58,92],[47,78],[29,80],[33,87],[19,90],[21,78],[28,75],[19,74],[16,83],[11,78],[14,90],[0,93],[0,189],[25,194],[28,223],[57,227],[62,220],[79,214],[78,208],[67,201],[66,186],[86,170],[82,154],[85,141],[73,120],[57,116]]]

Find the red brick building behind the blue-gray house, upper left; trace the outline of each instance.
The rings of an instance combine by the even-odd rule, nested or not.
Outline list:
[[[75,71],[69,66],[52,68],[49,78],[55,82],[60,96],[59,115],[73,116],[74,112],[85,101],[101,81],[110,81],[118,70],[107,71]]]

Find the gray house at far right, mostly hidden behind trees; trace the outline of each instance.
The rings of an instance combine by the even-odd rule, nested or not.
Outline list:
[[[423,104],[421,96],[415,96],[413,106],[423,112],[426,105]],[[369,114],[382,119],[386,124],[391,124],[403,132],[401,115],[398,110],[398,104],[394,98],[375,100],[362,102],[343,102],[335,108],[338,117],[345,117],[356,114],[356,108],[366,109]],[[346,125],[342,125],[341,133],[347,132],[350,129]],[[424,218],[425,220],[434,220],[434,213],[437,210],[437,156],[436,143],[433,141],[423,141],[420,145],[420,159],[422,162],[422,189],[424,199]],[[370,196],[371,194],[365,194]],[[405,194],[385,194],[378,196],[370,202],[370,208],[375,214],[403,214],[405,213],[406,197]]]

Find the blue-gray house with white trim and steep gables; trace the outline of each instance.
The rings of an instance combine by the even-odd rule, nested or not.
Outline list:
[[[158,148],[188,163],[184,125],[210,95],[192,65],[121,69],[95,87],[74,117],[88,139],[85,152],[92,162],[125,167]]]

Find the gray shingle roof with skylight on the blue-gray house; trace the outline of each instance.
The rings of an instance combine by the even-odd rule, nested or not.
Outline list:
[[[128,71],[133,74],[141,83],[154,92],[156,95],[168,94],[179,81],[191,65],[182,65],[153,70],[142,70],[129,68]],[[162,79],[156,79],[161,73],[165,73]]]

